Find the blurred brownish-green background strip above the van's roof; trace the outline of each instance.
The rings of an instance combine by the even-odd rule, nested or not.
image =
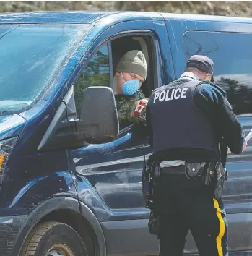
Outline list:
[[[252,1],[1,1],[0,12],[108,10],[251,17]]]

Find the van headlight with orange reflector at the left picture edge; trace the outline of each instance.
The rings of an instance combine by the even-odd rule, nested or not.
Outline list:
[[[9,155],[12,153],[17,137],[0,141],[0,175],[4,174]]]

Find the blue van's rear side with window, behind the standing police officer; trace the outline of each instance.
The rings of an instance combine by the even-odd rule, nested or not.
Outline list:
[[[171,41],[175,77],[183,72],[183,65],[192,55],[209,56],[214,61],[214,81],[227,91],[227,99],[247,135],[252,128],[252,25],[197,20],[196,16],[190,20],[169,20],[168,16],[164,15],[169,37],[173,37],[173,31],[183,34]],[[227,157],[229,179],[222,199],[227,210],[230,252],[252,249],[251,146],[250,140],[244,153]],[[186,252],[196,252],[191,236]]]

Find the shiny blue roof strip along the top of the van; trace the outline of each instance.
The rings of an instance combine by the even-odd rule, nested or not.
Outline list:
[[[251,18],[225,17],[215,15],[197,14],[170,14],[158,12],[86,12],[86,11],[60,11],[60,12],[6,12],[0,14],[0,23],[88,23],[92,24],[101,19],[112,18],[113,21],[126,20],[201,20],[214,22],[252,23]]]

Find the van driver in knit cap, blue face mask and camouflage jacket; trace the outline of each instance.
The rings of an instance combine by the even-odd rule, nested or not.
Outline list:
[[[114,75],[114,95],[118,110],[119,127],[145,124],[148,99],[141,85],[147,77],[147,62],[142,51],[128,51],[118,61]]]

